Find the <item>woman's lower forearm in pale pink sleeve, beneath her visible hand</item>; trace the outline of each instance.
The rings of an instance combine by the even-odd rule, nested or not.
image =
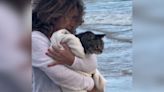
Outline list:
[[[91,77],[83,76],[64,65],[56,65],[53,67],[41,68],[48,77],[57,85],[71,90],[91,90],[94,81]]]

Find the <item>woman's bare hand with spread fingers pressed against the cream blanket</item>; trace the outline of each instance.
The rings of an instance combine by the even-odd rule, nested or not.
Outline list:
[[[54,48],[53,46],[48,49],[48,52],[46,53],[46,55],[50,56],[56,61],[55,63],[48,65],[48,67],[51,67],[57,64],[66,64],[66,65],[73,64],[75,56],[71,52],[70,48],[64,43],[61,43],[61,45],[64,47],[64,50],[58,50]]]

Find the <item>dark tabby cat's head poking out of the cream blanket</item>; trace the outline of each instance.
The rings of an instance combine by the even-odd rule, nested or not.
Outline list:
[[[101,54],[103,52],[105,34],[94,34],[87,31],[76,36],[80,39],[86,54]]]

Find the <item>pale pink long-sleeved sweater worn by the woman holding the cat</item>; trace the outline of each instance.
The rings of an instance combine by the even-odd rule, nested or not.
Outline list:
[[[83,76],[64,65],[47,67],[53,60],[45,55],[50,41],[41,32],[32,32],[32,66],[33,66],[33,92],[61,92],[60,87],[71,90],[91,90],[94,86],[91,77]],[[96,56],[86,59],[75,57],[71,66],[75,70],[92,72],[96,70]]]

